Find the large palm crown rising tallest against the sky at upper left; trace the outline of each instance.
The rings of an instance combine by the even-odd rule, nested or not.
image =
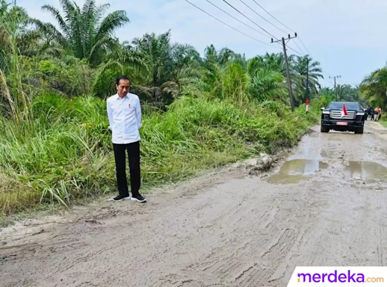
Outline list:
[[[70,0],[60,0],[60,6],[63,16],[52,5],[42,6],[42,10],[50,12],[57,20],[60,30],[38,19],[33,19],[33,22],[48,40],[60,45],[69,55],[87,59],[92,67],[102,63],[108,53],[119,46],[114,32],[130,22],[123,10],[103,17],[110,5],[96,6],[94,0],[85,0],[82,9]]]

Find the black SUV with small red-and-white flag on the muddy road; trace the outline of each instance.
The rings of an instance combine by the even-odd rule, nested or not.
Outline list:
[[[343,105],[347,111],[343,115]],[[321,132],[329,130],[363,133],[367,109],[358,102],[330,102],[326,108],[321,108]]]

